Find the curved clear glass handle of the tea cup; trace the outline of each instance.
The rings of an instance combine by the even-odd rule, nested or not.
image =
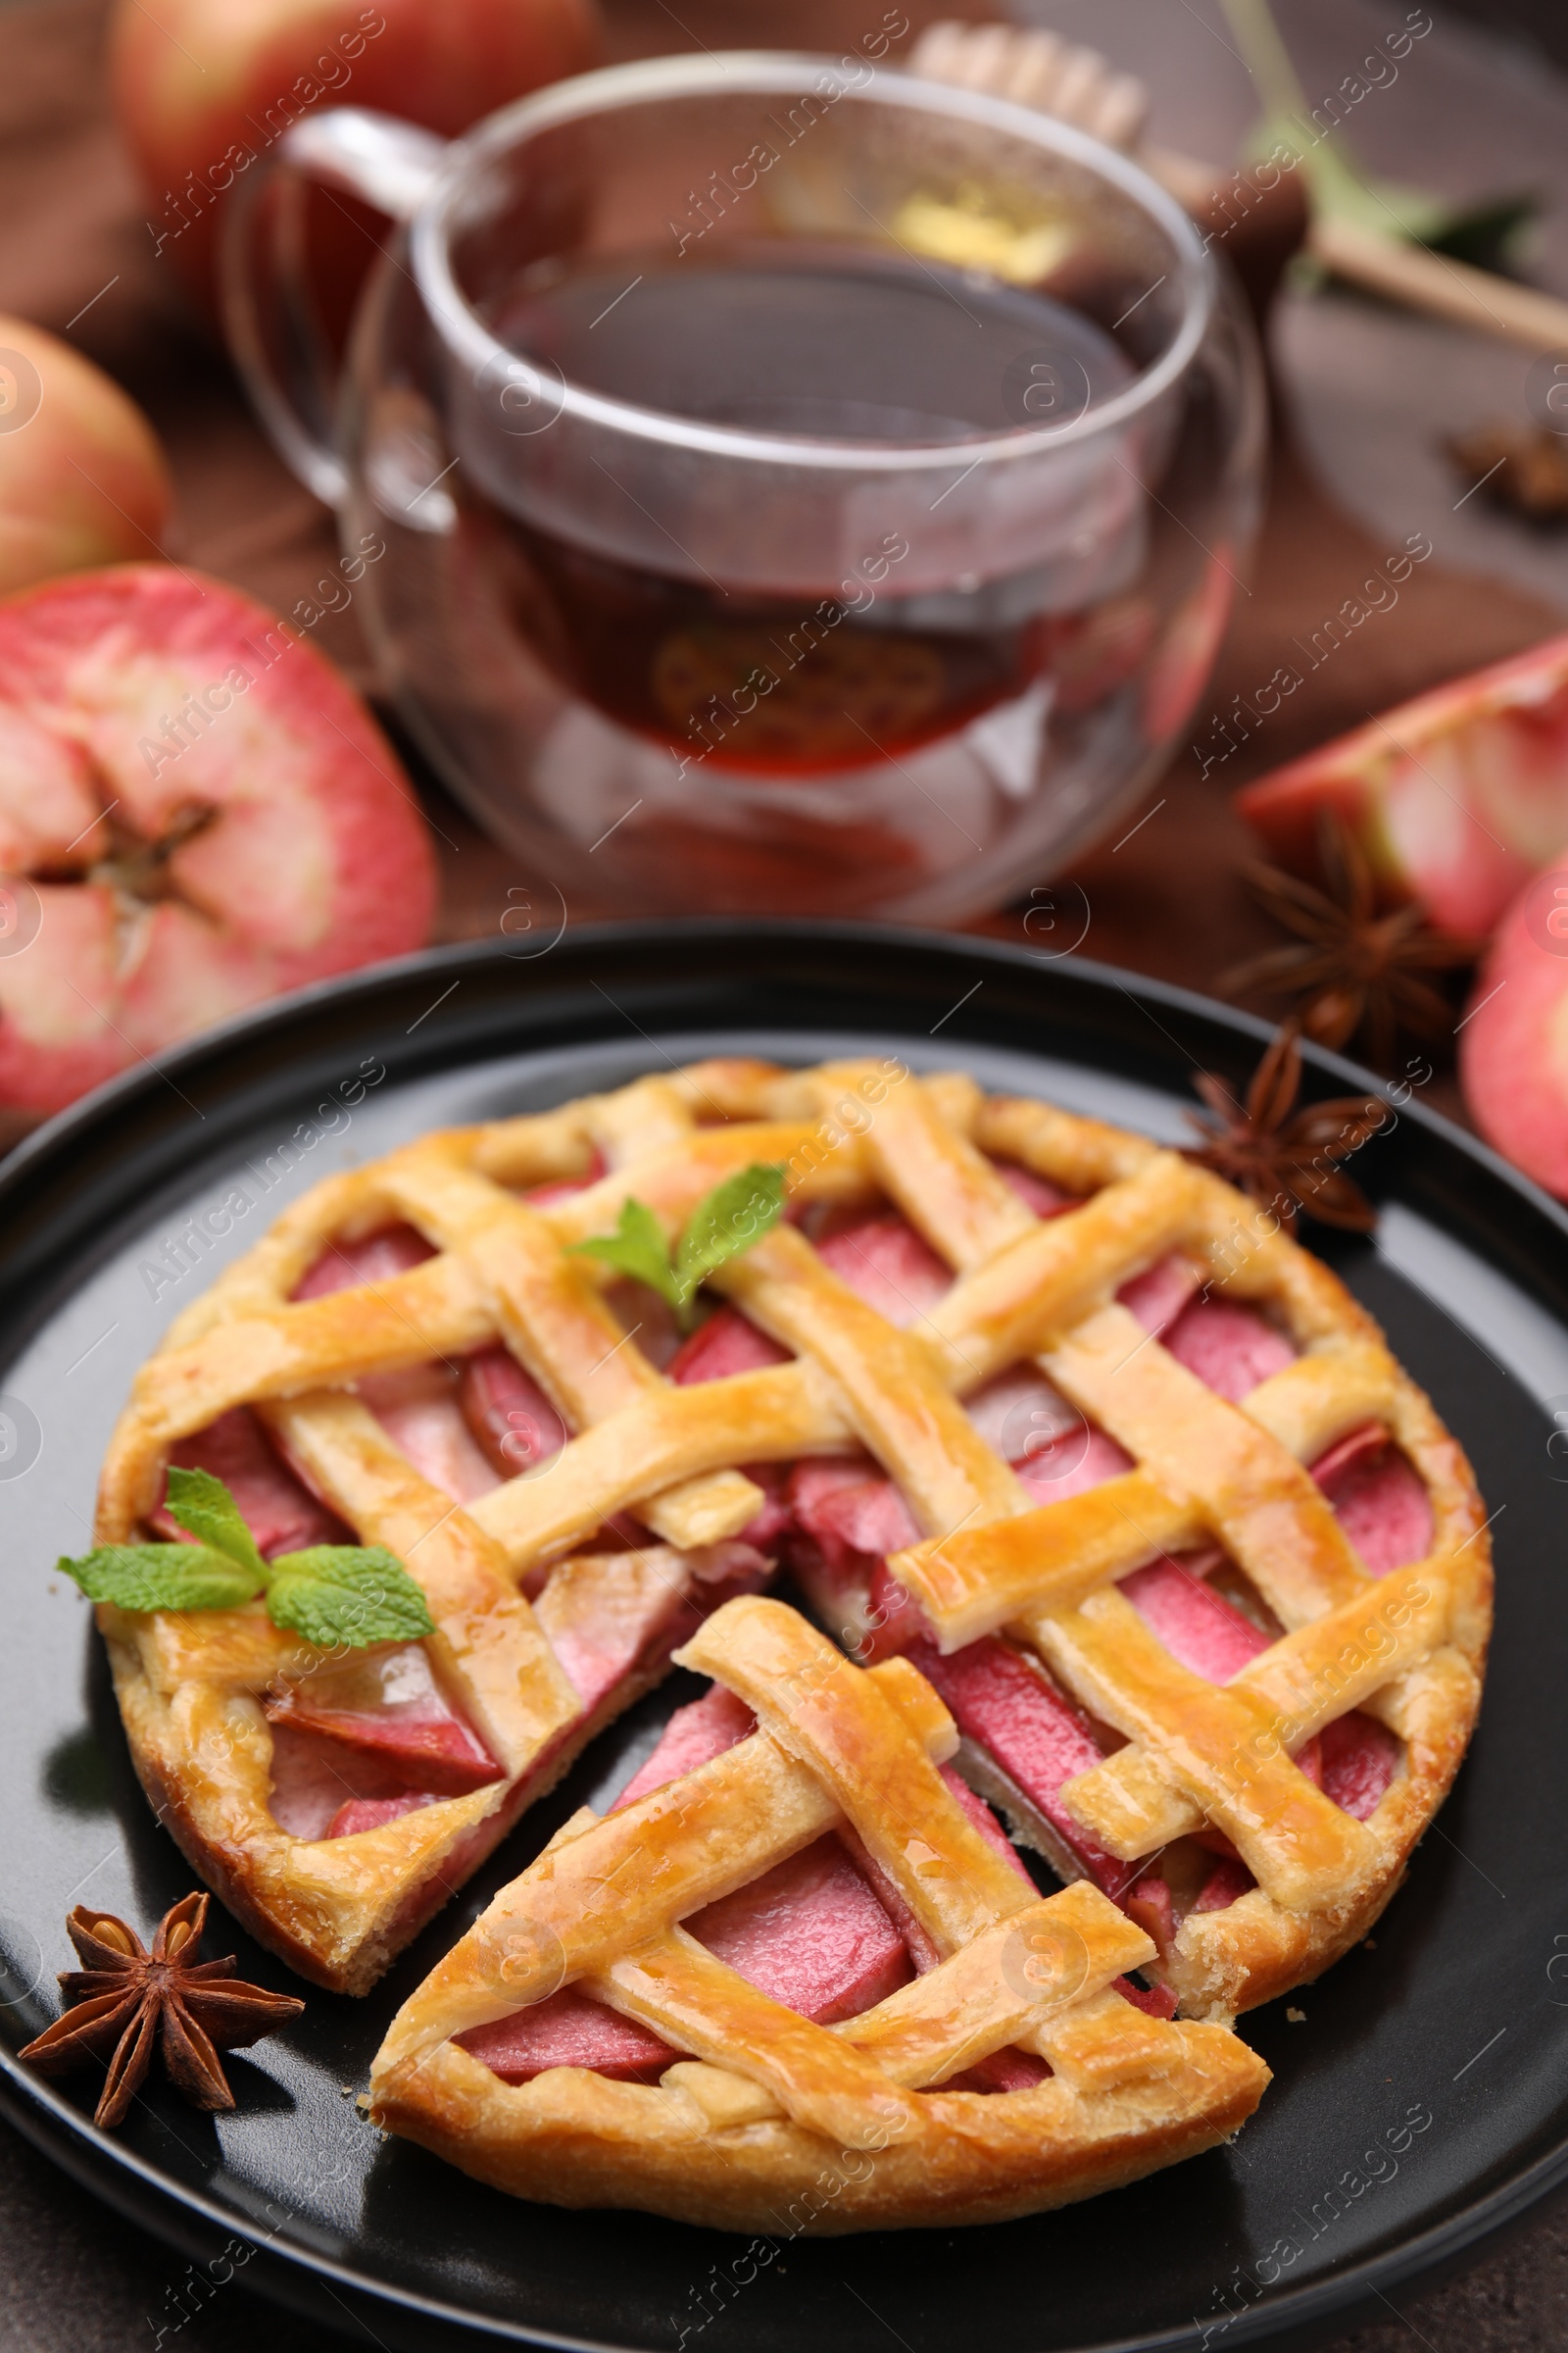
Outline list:
[[[444,155],[435,132],[334,106],[284,132],[235,191],[223,231],[228,348],[280,454],[327,506],[343,504],[348,471],[334,447],[336,362],[306,271],[306,188],[341,188],[411,221]]]

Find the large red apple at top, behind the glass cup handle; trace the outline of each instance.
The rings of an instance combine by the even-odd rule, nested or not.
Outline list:
[[[585,73],[599,35],[597,0],[118,0],[115,111],[153,249],[212,304],[223,195],[303,113],[371,106],[454,139]]]

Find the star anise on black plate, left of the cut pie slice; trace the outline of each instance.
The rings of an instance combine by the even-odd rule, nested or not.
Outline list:
[[[108,2059],[99,2125],[118,2125],[162,2045],[169,2080],[193,2108],[233,2108],[221,2049],[259,2042],[306,2007],[292,1993],[247,1986],[226,1960],[197,1960],[207,1897],[188,1894],[158,1922],[153,1951],[113,1913],[87,1911],[66,1920],[80,1969],[61,1969],[71,2005],[19,2054],[40,2075],[66,2075],[87,2059]]]

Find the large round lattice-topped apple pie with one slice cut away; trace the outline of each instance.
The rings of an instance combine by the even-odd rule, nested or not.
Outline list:
[[[752,1162],[790,1221],[658,1369],[656,1301],[567,1245],[628,1198],[677,1231]],[[1458,1445],[1269,1226],[1140,1136],[900,1064],[710,1061],[334,1176],[146,1365],[101,1537],[172,1454],[244,1438],[270,1494],[409,1565],[437,1633],[346,1699],[254,1612],[106,1612],[143,1781],[259,1934],[362,1988],[783,1553],[863,1657],[912,1647],[964,1769],[1133,1911],[1185,2009],[1267,1998],[1387,1901],[1490,1624]],[[512,1414],[489,1461],[458,1405],[491,1440]],[[331,1741],[402,1784],[313,1814],[299,1751]]]

